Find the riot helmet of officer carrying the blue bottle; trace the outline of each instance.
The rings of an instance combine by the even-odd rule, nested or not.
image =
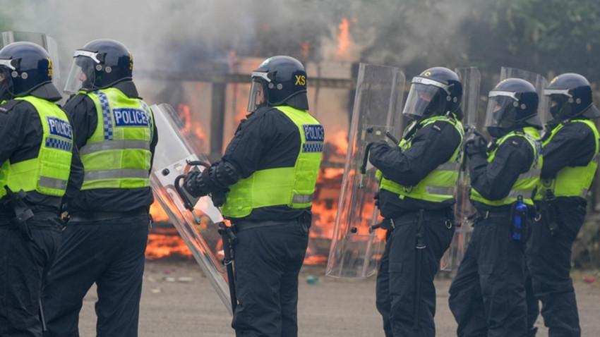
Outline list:
[[[488,95],[486,127],[494,138],[526,126],[541,129],[537,116],[539,97],[535,87],[520,78],[507,78]]]

